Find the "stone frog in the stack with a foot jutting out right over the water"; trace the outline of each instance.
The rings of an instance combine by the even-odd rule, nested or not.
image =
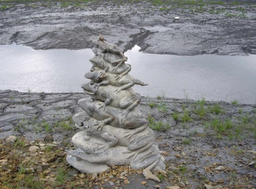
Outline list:
[[[117,86],[118,89],[113,92],[120,93],[122,90],[133,87],[136,85],[145,86],[147,84],[142,81],[133,78],[131,75],[126,74],[121,79],[117,80],[115,74],[108,73],[109,67],[106,67],[104,70],[92,67],[91,72],[87,73],[84,77],[93,80],[96,84],[95,87],[99,88],[102,85],[111,84],[113,86]]]

